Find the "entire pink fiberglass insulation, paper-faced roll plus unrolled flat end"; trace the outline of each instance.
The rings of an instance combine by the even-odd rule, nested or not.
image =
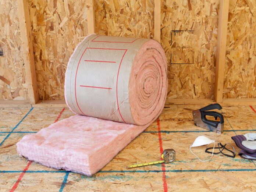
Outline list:
[[[92,175],[156,120],[166,94],[166,56],[157,41],[89,35],[65,74],[65,100],[77,115],[24,136],[18,153]]]

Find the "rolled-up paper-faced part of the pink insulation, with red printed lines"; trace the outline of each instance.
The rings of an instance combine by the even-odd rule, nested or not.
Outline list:
[[[152,39],[90,35],[72,54],[65,76],[74,113],[135,125],[158,117],[166,92],[166,56]]]

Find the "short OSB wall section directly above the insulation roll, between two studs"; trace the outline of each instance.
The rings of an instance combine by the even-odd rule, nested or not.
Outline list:
[[[153,38],[154,0],[95,0],[100,35]]]

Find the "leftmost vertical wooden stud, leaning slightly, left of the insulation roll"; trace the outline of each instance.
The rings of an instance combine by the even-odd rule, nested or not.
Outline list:
[[[38,86],[33,53],[32,32],[27,0],[18,0],[19,25],[22,37],[22,53],[26,72],[26,85],[28,87],[29,103],[38,102]]]

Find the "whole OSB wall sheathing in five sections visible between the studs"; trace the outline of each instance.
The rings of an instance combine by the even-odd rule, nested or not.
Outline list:
[[[219,0],[162,0],[169,98],[213,98]],[[230,0],[224,97],[256,98],[256,1]],[[86,0],[29,0],[39,98],[64,99],[64,75],[88,35]],[[95,0],[96,32],[153,38],[154,0]],[[27,99],[15,0],[0,1],[0,99]],[[15,38],[14,38],[15,37]]]

